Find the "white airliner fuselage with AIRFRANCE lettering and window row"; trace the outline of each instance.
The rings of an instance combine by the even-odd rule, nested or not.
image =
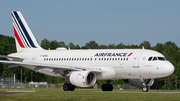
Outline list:
[[[168,76],[174,72],[174,66],[167,60],[148,60],[150,57],[164,57],[162,54],[146,49],[96,49],[96,50],[57,50],[28,51],[13,53],[23,62],[53,64],[82,68],[100,68],[102,75],[97,80],[114,79],[151,79]],[[26,66],[34,69],[35,67]],[[62,71],[53,73],[53,69],[38,72],[62,77]]]

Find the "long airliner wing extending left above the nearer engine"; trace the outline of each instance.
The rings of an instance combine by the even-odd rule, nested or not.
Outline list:
[[[9,64],[10,67],[15,66],[34,66],[35,71],[42,69],[42,68],[49,68],[49,69],[60,69],[60,70],[71,70],[71,71],[93,71],[97,73],[101,73],[100,68],[87,68],[87,67],[73,67],[73,66],[64,66],[64,65],[54,65],[54,64],[42,64],[42,63],[32,63],[32,62],[18,62],[18,61],[6,61],[6,60],[0,60],[0,63]]]

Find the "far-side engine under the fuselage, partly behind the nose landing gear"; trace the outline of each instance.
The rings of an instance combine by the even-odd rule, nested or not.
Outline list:
[[[146,86],[151,87],[154,83],[154,79],[128,79],[128,82],[130,85],[138,87],[138,88],[142,88],[143,85],[142,83],[146,83]]]

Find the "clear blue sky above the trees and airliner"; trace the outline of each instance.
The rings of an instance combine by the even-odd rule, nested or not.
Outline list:
[[[84,46],[151,46],[167,41],[180,47],[180,0],[0,0],[0,34],[13,36],[11,11],[20,11],[40,43]]]

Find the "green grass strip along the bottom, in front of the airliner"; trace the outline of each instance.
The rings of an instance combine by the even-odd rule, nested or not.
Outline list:
[[[9,89],[9,90],[32,90]],[[8,89],[0,89],[0,92]],[[38,88],[35,92],[0,95],[0,101],[179,101],[180,93],[142,93],[140,90],[114,90],[115,92],[102,92],[100,89],[76,89],[73,92],[65,92],[59,88]],[[118,92],[117,92],[118,91]],[[134,91],[138,93],[129,93]],[[173,91],[175,92],[175,91]],[[179,91],[180,92],[180,91]]]

